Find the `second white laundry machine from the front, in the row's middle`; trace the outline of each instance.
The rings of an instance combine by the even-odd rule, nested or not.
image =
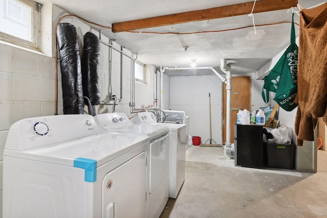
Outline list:
[[[133,124],[125,113],[98,114],[95,119],[102,132],[149,137],[149,217],[158,218],[169,198],[169,129]]]

